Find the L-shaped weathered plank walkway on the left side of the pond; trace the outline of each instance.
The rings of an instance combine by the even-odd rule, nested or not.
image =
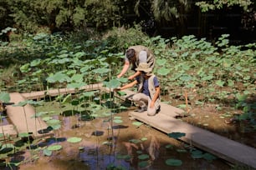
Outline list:
[[[92,91],[99,90],[102,88],[102,84],[91,84],[84,87],[79,88],[79,91]],[[49,91],[38,91],[38,92],[26,92],[26,93],[18,93],[13,92],[10,93],[11,100],[10,102],[14,102],[18,104],[18,102],[23,102],[29,99],[41,99],[44,98],[45,95],[49,96],[58,96],[60,94],[69,94],[78,92],[77,89],[74,88],[60,88],[58,89],[50,89]],[[4,132],[6,134],[12,134],[13,136],[18,136],[18,133],[33,133],[33,138],[41,138],[44,136],[54,136],[54,133],[38,133],[39,130],[44,130],[48,128],[46,122],[44,122],[41,117],[37,117],[36,119],[33,117],[35,114],[35,110],[33,106],[27,104],[23,107],[13,107],[11,105],[6,107],[7,114],[9,119],[13,124],[8,127],[3,127]],[[32,118],[33,117],[33,118]],[[28,127],[27,127],[28,124]],[[1,132],[0,132],[1,133]]]

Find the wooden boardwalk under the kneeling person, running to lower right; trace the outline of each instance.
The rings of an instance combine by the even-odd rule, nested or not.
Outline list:
[[[127,95],[123,99],[129,98],[134,93],[129,90],[124,92]],[[218,158],[223,158],[233,164],[256,168],[255,148],[224,138],[205,129],[197,128],[175,118],[182,112],[184,112],[182,109],[162,102],[161,112],[157,113],[156,116],[147,116],[146,112],[130,112],[129,115],[166,134],[185,133],[186,136],[181,138],[182,141],[192,144],[207,153],[212,153]]]

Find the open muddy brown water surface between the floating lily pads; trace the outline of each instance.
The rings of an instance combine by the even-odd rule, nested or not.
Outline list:
[[[40,153],[38,161],[23,163],[19,169],[94,170],[106,169],[110,165],[119,169],[230,169],[228,163],[218,158],[212,161],[192,158],[189,153],[192,146],[169,138],[154,128],[145,124],[136,127],[132,124],[136,121],[130,120],[128,112],[117,113],[114,117],[121,117],[123,122],[113,122],[112,129],[108,117],[92,121],[79,121],[76,116],[59,117],[63,122],[62,128],[54,132],[55,138],[45,138],[41,146],[58,143],[63,148],[54,151],[51,157]],[[82,141],[68,143],[66,139],[70,137],[82,138]],[[131,140],[139,139],[143,139],[141,143],[131,143]],[[103,144],[107,142],[111,144]],[[141,154],[149,158],[140,160]],[[165,162],[170,158],[181,160],[182,165],[167,166]],[[142,161],[148,163],[146,168],[140,168]]]

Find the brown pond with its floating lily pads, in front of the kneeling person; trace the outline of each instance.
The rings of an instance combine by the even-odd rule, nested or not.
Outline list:
[[[110,102],[105,102],[110,103]],[[61,122],[54,130],[54,137],[33,141],[31,149],[22,150],[10,157],[10,162],[21,162],[12,169],[230,169],[230,165],[209,153],[168,137],[150,126],[128,116],[135,109],[123,103],[124,109],[111,115],[91,117],[85,104],[72,112],[68,104],[59,109],[59,102],[44,102],[37,112],[51,112]],[[96,108],[96,105],[93,105]],[[85,108],[81,116],[79,109]],[[113,107],[113,105],[112,105]],[[99,112],[109,112],[99,109]],[[95,113],[95,112],[94,112]],[[112,118],[111,118],[112,117]],[[45,118],[45,117],[43,117]],[[69,142],[79,138],[79,142]],[[61,146],[47,155],[45,148]],[[3,165],[5,165],[3,163]],[[3,166],[2,168],[4,168]],[[9,167],[4,169],[10,169]]]

